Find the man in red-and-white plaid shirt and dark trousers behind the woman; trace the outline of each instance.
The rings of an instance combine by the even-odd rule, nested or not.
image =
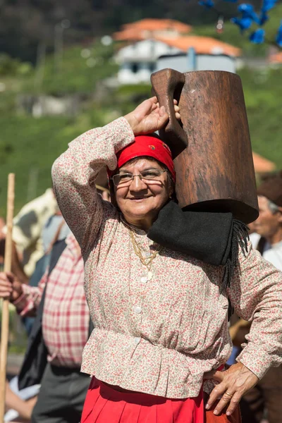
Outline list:
[[[32,423],[78,423],[90,378],[80,373],[82,350],[89,336],[90,314],[83,290],[84,269],[73,234],[56,266],[37,287],[20,283],[13,274],[0,274],[0,297],[10,296],[21,316],[36,314],[47,283],[42,333],[48,364],[42,378]]]

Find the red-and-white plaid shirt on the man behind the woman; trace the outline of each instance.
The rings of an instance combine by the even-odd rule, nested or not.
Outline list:
[[[48,277],[48,270],[37,287],[23,286],[23,295],[14,302],[21,316],[37,309],[44,287],[42,331],[49,361],[63,367],[80,367],[87,342],[89,311],[83,290],[84,269],[80,247],[71,234],[67,247]]]

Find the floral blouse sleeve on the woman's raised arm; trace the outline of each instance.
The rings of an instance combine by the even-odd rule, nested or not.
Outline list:
[[[85,251],[99,232],[103,200],[95,188],[102,167],[116,168],[116,153],[134,140],[125,118],[73,140],[52,166],[54,192],[64,219]]]

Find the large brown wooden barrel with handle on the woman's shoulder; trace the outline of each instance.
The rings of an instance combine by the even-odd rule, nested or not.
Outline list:
[[[152,74],[152,92],[166,107],[169,122],[160,131],[171,148],[180,207],[232,212],[257,219],[257,189],[243,87],[223,71]],[[176,120],[173,98],[180,106]]]

